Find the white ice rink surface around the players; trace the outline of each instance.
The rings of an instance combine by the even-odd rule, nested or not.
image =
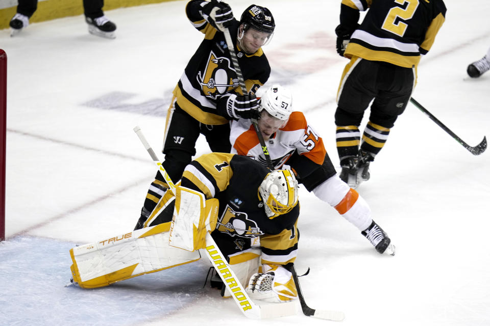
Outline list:
[[[229,1],[235,16],[249,3]],[[347,63],[335,52],[340,1],[264,0],[277,32],[264,51],[270,82],[322,135],[335,165],[335,95]],[[413,97],[472,146],[490,137],[490,73],[468,64],[490,46],[490,4],[446,1],[447,21],[419,66]],[[69,249],[136,224],[159,153],[171,90],[202,34],[184,1],[107,11],[117,38],[82,16],[33,23],[8,55],[7,240],[0,243],[0,324],[249,324],[231,299],[202,288],[199,262],[84,290],[69,283]],[[5,17],[3,17],[4,19]],[[366,115],[367,116],[367,115]],[[198,155],[209,151],[198,142]],[[300,191],[297,269],[308,305],[344,311],[343,325],[488,325],[489,152],[474,156],[409,104],[359,193],[397,246],[381,256],[333,208]],[[162,155],[160,154],[161,158]],[[301,314],[271,325],[320,325]]]

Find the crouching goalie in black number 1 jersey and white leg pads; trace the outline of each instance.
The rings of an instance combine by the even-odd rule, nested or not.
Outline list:
[[[300,210],[292,171],[271,172],[247,156],[210,153],[191,161],[179,182],[168,184],[154,214],[139,220],[135,231],[70,250],[72,282],[107,286],[192,263],[201,258],[200,249],[209,253],[217,246],[214,267],[222,276],[228,268],[234,274],[226,277],[228,286],[220,282],[223,296],[238,293],[235,280],[242,289],[248,286],[253,300],[282,303],[298,296],[290,271]]]

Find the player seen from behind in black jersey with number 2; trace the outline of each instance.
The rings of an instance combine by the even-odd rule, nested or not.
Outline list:
[[[359,12],[366,10],[358,24]],[[405,110],[416,67],[445,15],[443,0],[342,0],[337,52],[351,61],[342,73],[335,124],[340,178],[350,186],[370,178],[369,164]],[[359,125],[371,101],[361,143]]]

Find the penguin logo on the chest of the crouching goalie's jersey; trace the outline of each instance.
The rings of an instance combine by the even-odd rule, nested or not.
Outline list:
[[[226,206],[223,215],[218,221],[217,230],[230,236],[242,238],[255,238],[264,234],[257,227],[257,223],[247,219],[246,213],[235,212],[229,205]]]

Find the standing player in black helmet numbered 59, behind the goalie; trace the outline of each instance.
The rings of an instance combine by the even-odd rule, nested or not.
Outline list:
[[[229,5],[215,0],[191,0],[186,14],[204,40],[185,67],[167,112],[162,165],[172,180],[181,178],[196,153],[200,134],[211,151],[228,153],[229,120],[257,115],[255,92],[271,73],[261,46],[271,40],[275,29],[271,12],[256,5],[249,6],[240,21],[233,17]],[[228,28],[235,41],[248,94],[241,92],[224,33],[216,29],[217,24]],[[143,218],[151,214],[165,191],[165,182],[157,174],[141,210]]]

